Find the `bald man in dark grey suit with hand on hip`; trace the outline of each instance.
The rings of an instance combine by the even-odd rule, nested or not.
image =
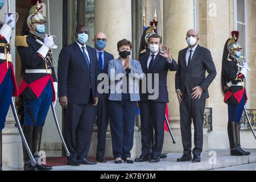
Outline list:
[[[203,122],[208,87],[216,77],[216,68],[210,51],[198,44],[196,30],[187,32],[188,47],[179,52],[178,70],[175,77],[177,98],[180,102],[180,129],[183,156],[177,162],[191,161],[191,123],[195,127],[192,162],[201,162],[203,148]],[[205,78],[206,71],[209,73]]]

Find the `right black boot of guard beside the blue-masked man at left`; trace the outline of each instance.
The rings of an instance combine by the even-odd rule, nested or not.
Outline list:
[[[51,166],[39,164],[39,151],[41,146],[42,133],[43,127],[34,127],[32,154],[36,160],[36,168],[38,168],[39,171],[49,171],[52,169]]]

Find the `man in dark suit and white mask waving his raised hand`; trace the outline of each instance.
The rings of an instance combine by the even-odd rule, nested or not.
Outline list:
[[[164,115],[166,103],[169,102],[167,73],[168,71],[176,71],[177,63],[171,57],[170,48],[163,46],[163,52],[160,52],[160,47],[162,47],[161,36],[153,34],[148,39],[147,51],[139,57],[146,80],[142,81],[141,101],[139,101],[141,109],[142,154],[138,159],[135,159],[135,162],[144,162],[149,158],[152,143],[152,123],[155,130],[155,144],[152,147],[151,163],[160,161],[159,156],[163,148]],[[146,92],[143,92],[145,89],[143,82],[145,81],[147,81],[147,87]],[[154,88],[154,93],[148,89],[148,85],[152,85],[152,87],[149,87]]]

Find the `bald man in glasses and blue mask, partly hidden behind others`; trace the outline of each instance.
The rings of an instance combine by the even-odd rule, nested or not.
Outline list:
[[[94,47],[98,60],[98,73],[108,74],[109,61],[114,59],[114,56],[106,51],[104,48],[107,43],[106,35],[98,32],[94,36]],[[100,80],[101,81],[101,80]],[[105,88],[102,88],[103,90]],[[106,131],[109,123],[109,109],[108,109],[108,93],[99,94],[99,104],[96,107],[97,126],[98,126],[98,144],[96,160],[100,163],[106,163],[105,146],[106,146]]]

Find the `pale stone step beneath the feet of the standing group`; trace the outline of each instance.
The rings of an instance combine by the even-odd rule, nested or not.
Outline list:
[[[79,171],[207,171],[213,169],[223,169],[233,166],[256,163],[256,150],[248,150],[249,156],[230,156],[229,150],[212,150],[203,152],[201,163],[184,162],[178,163],[176,159],[182,154],[171,153],[166,159],[161,159],[159,163],[134,163],[134,164],[114,164],[109,161],[106,164],[98,163],[95,166],[58,166],[54,170],[79,170]],[[214,154],[214,155],[213,155]],[[216,156],[216,158],[215,158]],[[212,160],[216,159],[216,160]]]

